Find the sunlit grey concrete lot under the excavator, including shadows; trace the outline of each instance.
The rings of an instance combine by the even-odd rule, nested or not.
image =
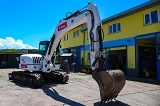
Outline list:
[[[8,81],[15,70],[0,69],[0,106],[99,106],[99,88],[89,74],[71,73],[68,84],[31,89]],[[117,101],[103,106],[160,106],[160,85],[127,80]]]

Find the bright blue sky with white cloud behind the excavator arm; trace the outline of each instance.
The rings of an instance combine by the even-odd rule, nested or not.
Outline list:
[[[50,40],[66,13],[97,5],[101,19],[149,0],[0,0],[0,49],[34,49]]]

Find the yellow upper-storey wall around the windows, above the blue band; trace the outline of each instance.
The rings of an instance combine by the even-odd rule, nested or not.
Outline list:
[[[119,19],[116,19],[108,23],[104,23],[102,25],[103,31],[104,31],[104,41],[129,38],[129,37],[134,37],[138,35],[160,31],[160,28],[159,28],[160,22],[155,23],[155,24],[150,24],[150,25],[144,25],[144,14],[148,12],[152,12],[154,10],[158,10],[158,9],[160,9],[160,5],[153,6],[148,9],[144,9],[143,11],[136,12],[129,16],[125,16],[123,18],[119,18]],[[109,25],[117,23],[117,22],[121,23],[121,32],[109,34],[108,33]],[[85,34],[84,34],[84,32],[80,31],[80,29],[85,26],[86,25],[80,25],[79,27],[76,27],[73,30],[69,31],[67,33],[68,40],[64,41],[64,38],[63,38],[61,41],[62,48],[68,48],[68,47],[79,46],[79,45],[87,45],[89,42],[87,40],[88,32],[85,31]],[[73,32],[76,30],[79,30],[79,37],[73,38]],[[83,41],[83,39],[85,39],[85,41]]]

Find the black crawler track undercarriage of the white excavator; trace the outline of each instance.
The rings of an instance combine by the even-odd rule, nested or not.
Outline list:
[[[9,73],[9,80],[20,82],[32,88],[40,88],[45,82],[66,83],[69,76],[66,73],[52,71],[50,73],[13,71]]]

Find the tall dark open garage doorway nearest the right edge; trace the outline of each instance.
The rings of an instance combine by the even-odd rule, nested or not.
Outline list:
[[[138,39],[139,76],[157,79],[156,37]]]

